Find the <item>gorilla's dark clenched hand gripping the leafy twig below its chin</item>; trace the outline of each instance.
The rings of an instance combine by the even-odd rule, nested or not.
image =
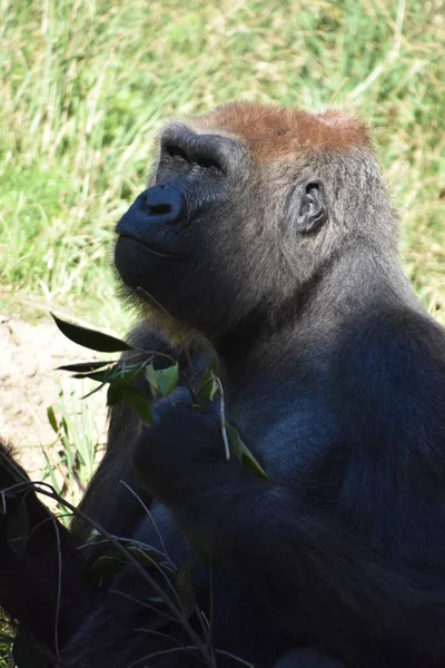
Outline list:
[[[235,474],[235,462],[225,458],[219,402],[204,412],[179,389],[156,403],[154,412],[155,424],[141,430],[131,450],[149,494],[175,508],[185,497],[200,495],[217,479]]]

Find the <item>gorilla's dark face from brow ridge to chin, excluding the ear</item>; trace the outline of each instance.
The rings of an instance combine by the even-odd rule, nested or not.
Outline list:
[[[265,250],[255,181],[253,158],[240,141],[168,127],[155,185],[116,229],[115,263],[123,283],[207,335],[229,327],[266,283],[264,276],[254,279],[258,250]]]

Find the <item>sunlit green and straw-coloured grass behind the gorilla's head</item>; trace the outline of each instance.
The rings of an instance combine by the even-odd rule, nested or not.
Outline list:
[[[375,128],[402,250],[445,321],[442,0],[3,0],[0,310],[122,331],[112,228],[166,118],[233,98]]]

